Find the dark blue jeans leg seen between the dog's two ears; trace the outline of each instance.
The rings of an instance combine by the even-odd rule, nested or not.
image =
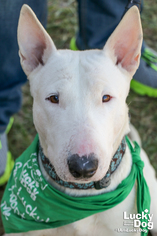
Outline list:
[[[76,45],[80,50],[102,49],[119,24],[128,0],[77,0],[79,30]]]

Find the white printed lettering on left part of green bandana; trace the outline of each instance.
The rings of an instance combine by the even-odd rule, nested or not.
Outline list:
[[[25,164],[22,164],[22,162],[15,163],[13,171],[14,185],[8,188],[9,205],[7,205],[5,200],[1,204],[2,214],[7,221],[11,216],[11,211],[13,211],[14,214],[23,219],[27,215],[27,217],[29,216],[30,219],[32,218],[35,221],[49,222],[49,218],[43,219],[37,213],[36,199],[39,189],[44,191],[47,184],[43,183],[41,172],[39,169],[34,168],[35,166],[38,166],[37,153],[31,154],[30,159]],[[17,181],[17,178],[19,181]],[[29,201],[29,198],[31,201]]]

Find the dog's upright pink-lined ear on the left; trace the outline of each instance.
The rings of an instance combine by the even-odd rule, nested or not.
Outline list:
[[[28,5],[23,5],[18,24],[21,65],[27,76],[40,64],[44,65],[56,47]]]

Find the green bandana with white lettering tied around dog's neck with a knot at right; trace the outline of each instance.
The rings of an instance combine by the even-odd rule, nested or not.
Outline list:
[[[133,148],[127,137],[126,141],[132,154],[133,165],[129,176],[117,189],[96,196],[72,197],[53,188],[43,178],[38,165],[39,139],[36,136],[30,147],[16,160],[2,199],[1,211],[5,232],[20,233],[56,228],[106,211],[129,195],[136,180],[138,213],[142,214],[145,209],[148,209],[149,213],[150,195],[143,177],[144,163],[139,156],[140,147],[135,143]],[[148,223],[146,219],[143,221]],[[141,235],[147,233],[142,232]]]

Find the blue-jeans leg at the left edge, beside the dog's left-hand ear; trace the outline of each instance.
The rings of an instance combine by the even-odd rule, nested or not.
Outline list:
[[[20,65],[17,25],[20,9],[28,4],[46,26],[47,0],[2,0],[0,7],[0,176],[7,162],[6,128],[21,107],[21,86],[26,76]],[[0,179],[1,180],[1,179]],[[0,181],[1,185],[1,181]]]

